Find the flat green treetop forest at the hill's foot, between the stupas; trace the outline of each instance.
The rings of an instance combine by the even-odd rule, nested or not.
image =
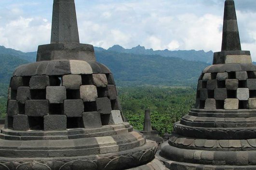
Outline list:
[[[165,130],[171,133],[173,123],[193,107],[196,90],[190,87],[137,86],[119,87],[118,92],[123,114],[134,129],[143,130],[144,111],[150,109],[152,128],[163,134]],[[6,100],[6,95],[0,97],[1,118],[6,114]]]

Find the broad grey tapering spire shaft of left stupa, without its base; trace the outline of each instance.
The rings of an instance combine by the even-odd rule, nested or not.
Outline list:
[[[74,0],[54,0],[51,44],[80,43]]]

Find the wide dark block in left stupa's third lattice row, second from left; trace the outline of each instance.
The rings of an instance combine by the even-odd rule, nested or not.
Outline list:
[[[25,103],[25,114],[28,116],[44,116],[49,114],[48,100],[27,100]]]

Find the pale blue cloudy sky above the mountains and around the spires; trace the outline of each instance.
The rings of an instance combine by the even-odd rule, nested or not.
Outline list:
[[[243,50],[256,61],[256,0],[234,0]],[[220,51],[224,0],[75,0],[80,42],[108,49]],[[0,45],[36,51],[51,38],[53,0],[0,0]]]

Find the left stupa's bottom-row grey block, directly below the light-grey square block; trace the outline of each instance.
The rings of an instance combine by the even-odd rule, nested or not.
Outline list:
[[[43,117],[43,125],[45,131],[66,130],[66,115],[47,115]]]

